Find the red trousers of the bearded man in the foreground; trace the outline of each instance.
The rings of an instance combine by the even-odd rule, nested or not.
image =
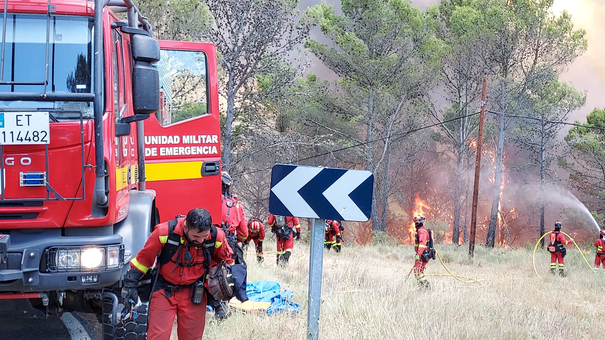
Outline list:
[[[153,293],[149,305],[147,340],[170,340],[174,316],[177,316],[178,340],[200,340],[206,325],[206,295],[200,306],[191,303],[191,289],[173,292],[166,298],[164,290]]]

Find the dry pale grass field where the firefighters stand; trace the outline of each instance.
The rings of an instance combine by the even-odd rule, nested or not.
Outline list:
[[[267,251],[275,247],[267,240]],[[407,275],[411,247],[345,247],[324,253],[320,337],[322,339],[600,339],[605,276],[590,272],[577,250],[568,252],[567,278],[548,274],[549,253],[538,252],[542,278],[535,276],[531,251],[440,245],[457,275],[486,278],[485,287],[447,276],[429,276],[432,292]],[[206,316],[204,339],[306,339],[309,245],[298,243],[287,269],[275,255],[262,266],[249,250],[249,281],[273,280],[293,291],[304,309],[294,316],[236,313],[220,324]],[[586,254],[590,263],[594,255]],[[431,261],[426,273],[445,273]],[[176,339],[175,330],[172,339]]]

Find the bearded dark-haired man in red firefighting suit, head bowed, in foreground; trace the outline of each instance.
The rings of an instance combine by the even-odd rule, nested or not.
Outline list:
[[[191,302],[191,285],[198,279],[206,281],[204,249],[201,244],[211,239],[212,218],[203,208],[192,209],[185,218],[178,218],[174,233],[180,235],[180,244],[171,261],[160,267],[157,283],[149,302],[149,327],[147,339],[169,340],[177,316],[177,335],[179,340],[199,340],[204,333],[207,297],[204,293],[201,304]],[[216,227],[215,227],[216,228]],[[233,252],[227,243],[224,232],[219,228],[215,249],[211,256],[210,266],[220,261],[233,264]],[[131,269],[124,278],[122,297],[125,301],[139,299],[137,286],[143,274],[153,266],[156,257],[168,241],[168,222],[155,226],[136,257],[130,261]]]

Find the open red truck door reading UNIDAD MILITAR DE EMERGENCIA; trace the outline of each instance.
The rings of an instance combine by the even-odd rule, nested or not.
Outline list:
[[[146,188],[160,222],[205,208],[221,223],[220,118],[214,44],[160,41],[162,110],[145,120]]]

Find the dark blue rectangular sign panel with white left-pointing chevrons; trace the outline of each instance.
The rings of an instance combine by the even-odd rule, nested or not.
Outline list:
[[[371,171],[276,164],[271,170],[269,212],[322,220],[370,220]]]

